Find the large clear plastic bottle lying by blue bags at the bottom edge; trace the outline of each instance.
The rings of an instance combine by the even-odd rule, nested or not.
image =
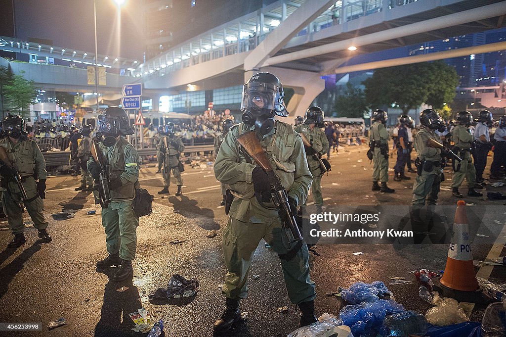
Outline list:
[[[387,316],[385,324],[390,329],[391,336],[409,336],[409,334],[425,335],[427,333],[427,319],[416,311],[403,311]]]

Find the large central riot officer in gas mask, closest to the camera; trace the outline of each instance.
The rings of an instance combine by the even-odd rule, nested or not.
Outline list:
[[[227,276],[222,293],[226,308],[216,321],[214,330],[223,333],[240,319],[239,300],[247,296],[247,276],[260,240],[264,238],[278,253],[290,301],[302,311],[301,325],[316,321],[314,316],[315,284],[309,277],[307,245],[282,243],[286,238],[283,223],[286,214],[272,202],[268,174],[251,161],[239,146],[237,137],[254,130],[266,152],[272,171],[287,190],[291,211],[302,205],[311,186],[304,145],[300,135],[275,115],[288,115],[283,104],[283,87],[271,73],[260,72],[243,86],[242,123],[225,136],[214,171],[216,178],[227,184],[234,195],[223,232],[223,254]],[[294,214],[293,214],[294,215]]]

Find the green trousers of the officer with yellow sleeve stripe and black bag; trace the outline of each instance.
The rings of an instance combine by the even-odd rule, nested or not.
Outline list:
[[[102,226],[105,228],[107,252],[131,261],[137,247],[139,218],[134,212],[134,202],[111,202],[102,208]]]

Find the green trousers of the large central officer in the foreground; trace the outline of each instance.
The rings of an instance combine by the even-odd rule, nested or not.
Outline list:
[[[222,293],[232,299],[247,296],[247,277],[251,260],[263,238],[272,249],[280,254],[287,252],[281,242],[281,222],[248,223],[230,217],[223,232],[223,255],[228,273]],[[286,235],[286,233],[283,233]],[[316,297],[315,283],[309,278],[309,252],[302,245],[291,260],[281,260],[281,268],[291,303],[312,301]],[[268,281],[268,280],[266,280]]]

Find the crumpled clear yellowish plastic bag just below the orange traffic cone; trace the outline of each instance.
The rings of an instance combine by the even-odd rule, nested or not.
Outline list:
[[[436,307],[427,310],[427,313],[425,314],[427,322],[433,325],[445,326],[469,321],[466,313],[462,310],[462,308],[458,307],[458,302],[455,299],[440,297],[437,291],[433,294],[434,297],[431,304]]]

